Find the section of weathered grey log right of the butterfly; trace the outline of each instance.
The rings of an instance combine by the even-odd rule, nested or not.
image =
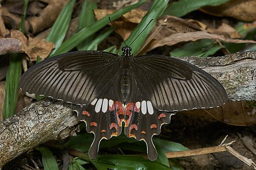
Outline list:
[[[180,59],[213,75],[224,86],[229,100],[256,100],[256,52]]]

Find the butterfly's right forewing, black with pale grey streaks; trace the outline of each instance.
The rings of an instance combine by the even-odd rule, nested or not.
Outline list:
[[[213,76],[180,59],[145,55],[131,60],[138,87],[161,111],[218,107],[228,99]]]

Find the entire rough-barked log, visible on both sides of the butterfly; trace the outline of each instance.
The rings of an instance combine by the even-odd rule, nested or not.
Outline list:
[[[256,99],[256,53],[181,57],[217,78],[230,100]],[[45,99],[0,122],[0,167],[40,143],[72,135],[79,121],[62,101]]]

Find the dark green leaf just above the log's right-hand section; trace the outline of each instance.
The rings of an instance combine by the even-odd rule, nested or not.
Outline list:
[[[183,57],[183,56],[197,56],[208,57],[218,50],[221,46],[213,40],[203,39],[195,42],[188,42],[187,44],[176,48],[170,52],[170,56]]]

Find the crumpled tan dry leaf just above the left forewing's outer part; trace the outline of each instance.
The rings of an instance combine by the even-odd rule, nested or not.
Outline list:
[[[27,54],[29,61],[36,61],[36,57],[38,56],[40,56],[42,59],[46,58],[54,48],[53,42],[46,42],[44,40],[31,37],[28,37],[27,39],[22,32],[17,30],[11,31],[11,37],[22,42],[21,52]]]

